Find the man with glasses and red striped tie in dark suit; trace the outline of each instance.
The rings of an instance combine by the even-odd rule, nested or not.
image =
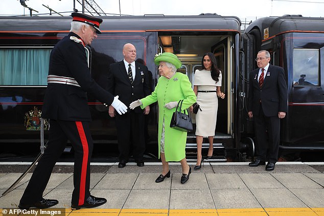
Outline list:
[[[266,170],[271,171],[278,158],[280,119],[287,113],[288,90],[284,69],[269,64],[268,51],[259,51],[256,61],[259,68],[250,73],[248,116],[254,120],[257,159],[249,166],[265,165],[268,159]]]

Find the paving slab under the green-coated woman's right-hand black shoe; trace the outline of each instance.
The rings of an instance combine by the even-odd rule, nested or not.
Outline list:
[[[205,174],[192,173],[189,176],[189,180],[185,184],[181,184],[182,174],[172,174],[171,189],[208,189],[207,180]]]

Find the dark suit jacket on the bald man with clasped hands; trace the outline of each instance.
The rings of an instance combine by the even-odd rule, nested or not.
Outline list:
[[[108,91],[129,107],[129,104],[137,99],[142,99],[151,94],[149,71],[144,64],[135,61],[135,79],[130,82],[124,61],[110,64],[108,74]],[[130,112],[128,109],[127,112]],[[141,107],[136,107],[134,112],[143,112]]]

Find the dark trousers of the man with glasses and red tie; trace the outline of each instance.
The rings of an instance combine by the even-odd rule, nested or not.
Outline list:
[[[280,118],[278,116],[265,116],[260,104],[259,115],[253,115],[253,119],[254,132],[257,138],[257,159],[272,163],[277,162],[280,141]]]

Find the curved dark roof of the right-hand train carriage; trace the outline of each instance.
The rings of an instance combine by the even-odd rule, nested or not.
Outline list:
[[[244,31],[248,33],[258,28],[261,35],[268,28],[269,38],[286,32],[320,32],[324,33],[324,18],[303,17],[302,15],[284,15],[263,17],[253,21]]]

